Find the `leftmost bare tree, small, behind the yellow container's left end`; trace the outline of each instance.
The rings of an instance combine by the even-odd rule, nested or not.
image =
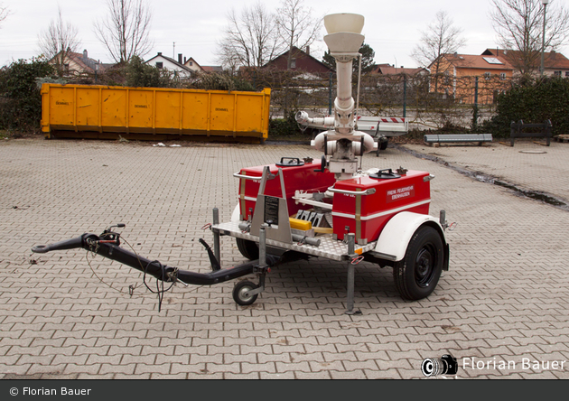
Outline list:
[[[58,6],[57,18],[51,20],[48,29],[39,33],[38,44],[42,54],[51,59],[55,70],[62,76],[70,54],[78,51],[80,42],[77,27],[63,21],[61,7]]]

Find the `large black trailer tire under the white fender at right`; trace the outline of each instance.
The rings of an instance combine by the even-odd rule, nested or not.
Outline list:
[[[408,300],[426,298],[439,282],[443,263],[441,234],[429,226],[418,228],[409,241],[405,256],[393,268],[397,291]]]

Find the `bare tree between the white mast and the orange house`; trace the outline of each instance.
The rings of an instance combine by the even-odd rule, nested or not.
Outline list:
[[[421,42],[415,46],[411,57],[422,67],[429,68],[436,77],[441,70],[443,55],[458,51],[466,43],[461,33],[461,28],[452,26],[452,18],[439,11],[434,22],[421,31]]]

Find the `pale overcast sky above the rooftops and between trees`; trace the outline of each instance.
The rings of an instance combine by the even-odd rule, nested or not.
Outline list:
[[[216,42],[227,24],[228,11],[231,8],[240,11],[256,1],[148,0],[153,10],[151,37],[154,49],[145,60],[162,51],[170,57],[174,52],[182,53],[201,65],[219,64]],[[275,11],[280,1],[264,3],[267,9]],[[0,23],[0,65],[39,54],[38,33],[46,30],[51,19],[57,17],[58,5],[63,20],[70,21],[79,30],[79,51],[87,49],[93,59],[112,61],[93,33],[94,21],[107,14],[106,0],[0,0],[0,4],[7,5],[12,12]],[[460,52],[480,54],[487,48],[496,47],[496,35],[488,17],[490,0],[305,0],[304,5],[311,7],[314,15],[364,15],[366,23],[362,33],[366,36],[365,42],[376,52],[377,63],[416,67],[410,53],[420,40],[420,31],[434,21],[438,11],[446,11],[454,25],[462,28],[462,36],[467,42]],[[324,34],[322,28],[322,36]],[[312,56],[322,60],[325,49],[321,38],[312,45]],[[559,51],[569,57],[569,44]]]

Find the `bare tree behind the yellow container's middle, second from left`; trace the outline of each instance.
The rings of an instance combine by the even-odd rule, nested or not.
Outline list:
[[[108,14],[95,23],[95,34],[116,62],[144,56],[152,49],[152,15],[145,0],[107,0]]]

